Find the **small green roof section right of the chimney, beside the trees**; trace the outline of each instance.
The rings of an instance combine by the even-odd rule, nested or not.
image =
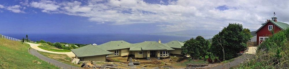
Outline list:
[[[162,44],[171,48],[179,48],[179,49],[181,49],[181,47],[184,46],[184,43],[179,42],[179,41],[171,41],[171,42],[162,43]]]

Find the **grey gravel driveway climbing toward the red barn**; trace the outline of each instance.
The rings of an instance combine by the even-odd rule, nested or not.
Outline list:
[[[234,66],[238,66],[240,63],[242,63],[244,60],[246,60],[248,57],[252,57],[253,54],[243,54],[240,57],[236,57],[234,58],[234,60],[232,62],[230,62],[231,64],[225,64],[225,69],[229,69],[230,67],[234,67]],[[210,69],[222,69],[223,68],[223,64],[220,64],[218,66],[214,66]]]

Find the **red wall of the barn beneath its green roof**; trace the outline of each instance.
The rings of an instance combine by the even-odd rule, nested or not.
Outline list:
[[[268,37],[269,35],[272,35],[272,33],[268,30],[268,26],[269,25],[273,25],[273,30],[274,32],[278,32],[280,30],[282,30],[281,28],[279,28],[278,26],[274,25],[271,22],[268,22],[267,24],[265,24],[262,28],[260,28],[260,30],[258,30],[257,33],[257,45],[259,45],[259,37]]]

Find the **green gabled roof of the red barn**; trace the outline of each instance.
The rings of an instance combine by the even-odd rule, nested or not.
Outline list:
[[[274,25],[278,26],[279,28],[281,28],[282,30],[285,30],[289,27],[288,24],[283,23],[283,22],[275,22],[274,20],[269,20],[271,23],[273,23]],[[268,22],[269,22],[268,21]],[[257,30],[259,31],[263,26],[265,26],[268,22],[263,23],[262,26]],[[257,33],[257,31],[255,33]]]

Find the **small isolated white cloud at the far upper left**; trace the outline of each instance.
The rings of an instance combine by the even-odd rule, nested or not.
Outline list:
[[[21,10],[21,8],[22,7],[20,5],[13,5],[6,7],[7,10],[10,10],[14,13],[25,13],[23,10]]]

